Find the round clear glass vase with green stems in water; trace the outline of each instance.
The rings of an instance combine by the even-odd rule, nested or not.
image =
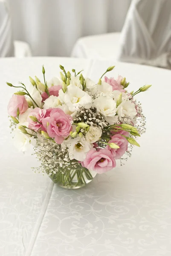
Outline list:
[[[47,172],[46,172],[47,173]],[[48,173],[47,173],[48,174]],[[86,186],[96,176],[96,172],[86,168],[81,169],[66,169],[65,172],[57,170],[52,172],[49,177],[51,180],[65,189],[79,189]]]

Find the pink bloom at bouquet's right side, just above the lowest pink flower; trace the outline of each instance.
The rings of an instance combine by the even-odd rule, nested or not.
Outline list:
[[[128,149],[128,140],[120,134],[114,135],[108,143],[115,143],[119,146],[119,148],[110,148],[109,145],[106,146],[106,149],[110,150],[115,159],[121,158]]]

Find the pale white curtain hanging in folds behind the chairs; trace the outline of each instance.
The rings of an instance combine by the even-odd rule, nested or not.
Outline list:
[[[121,31],[131,0],[9,0],[14,39],[33,55],[70,56],[86,35]]]

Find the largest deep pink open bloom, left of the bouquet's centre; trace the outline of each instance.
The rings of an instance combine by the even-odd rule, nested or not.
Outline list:
[[[69,136],[70,131],[72,131],[71,121],[72,117],[70,115],[66,115],[60,108],[53,108],[50,116],[42,120],[42,124],[49,137],[55,138],[55,142],[61,144],[64,137]],[[47,122],[49,122],[48,126]]]

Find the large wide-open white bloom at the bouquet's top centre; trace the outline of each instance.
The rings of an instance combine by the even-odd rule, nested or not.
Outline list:
[[[79,107],[91,108],[92,98],[88,93],[84,92],[75,85],[70,84],[67,86],[66,93],[59,90],[59,99],[66,104],[70,111],[74,112]]]

